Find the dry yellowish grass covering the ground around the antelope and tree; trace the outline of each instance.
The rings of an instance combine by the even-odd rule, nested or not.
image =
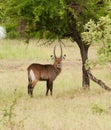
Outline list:
[[[84,91],[81,88],[79,49],[77,46],[63,49],[67,54],[63,71],[54,82],[54,95],[48,97],[45,96],[45,82],[37,84],[33,98],[27,95],[26,68],[32,62],[51,63],[48,57],[52,47],[31,45],[28,55],[32,53],[33,59],[22,54],[22,58],[15,55],[16,58],[9,56],[0,60],[0,119],[3,117],[0,130],[111,130],[111,93],[92,82],[91,90]],[[46,60],[40,54],[37,59],[35,50],[47,54]],[[20,53],[19,50],[16,52]],[[92,60],[95,59],[95,52],[96,47],[92,47],[89,55]],[[111,74],[108,70],[98,66],[93,73],[110,85]],[[13,116],[8,120],[10,113]]]

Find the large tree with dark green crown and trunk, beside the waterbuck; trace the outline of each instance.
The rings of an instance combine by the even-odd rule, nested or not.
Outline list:
[[[49,40],[68,37],[76,41],[82,58],[82,86],[89,88],[85,63],[90,44],[82,39],[81,33],[90,19],[98,21],[108,13],[108,3],[108,0],[4,0],[3,9],[6,23],[13,20],[16,27],[24,25],[22,31],[28,41],[31,37]]]

